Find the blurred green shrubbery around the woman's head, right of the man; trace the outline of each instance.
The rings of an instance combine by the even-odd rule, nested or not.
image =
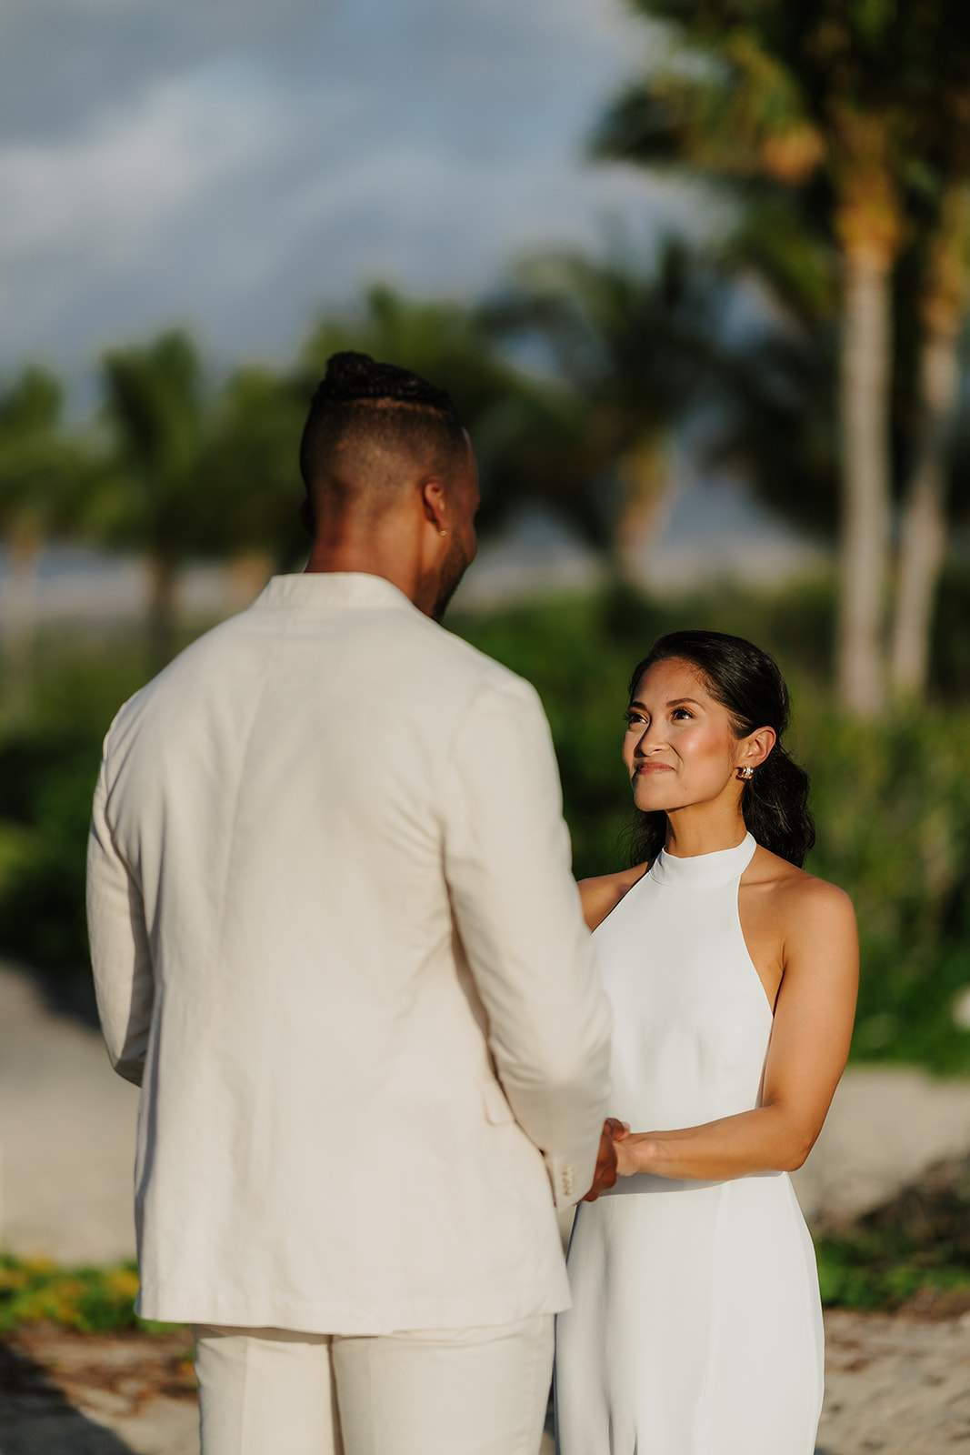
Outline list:
[[[628,789],[620,762],[627,678],[660,631],[711,627],[778,658],[793,688],[793,746],[813,781],[811,873],[852,896],[862,949],[855,1059],[970,1074],[970,1033],[953,1018],[970,985],[970,711],[923,706],[859,726],[839,717],[826,677],[832,595],[720,594],[652,604],[627,594],[524,607],[461,623],[538,688],[560,760],[579,877],[625,863]]]

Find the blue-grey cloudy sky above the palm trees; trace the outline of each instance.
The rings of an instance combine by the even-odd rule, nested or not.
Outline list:
[[[656,45],[622,0],[6,0],[0,371],[173,322],[281,358],[362,282],[668,226],[676,194],[583,160]]]

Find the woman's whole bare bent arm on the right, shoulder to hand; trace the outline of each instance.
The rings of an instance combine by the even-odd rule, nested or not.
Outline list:
[[[702,1126],[622,1138],[621,1177],[721,1180],[794,1171],[811,1151],[849,1053],[858,937],[852,904],[835,885],[806,874],[784,895],[784,973],[763,1104]]]

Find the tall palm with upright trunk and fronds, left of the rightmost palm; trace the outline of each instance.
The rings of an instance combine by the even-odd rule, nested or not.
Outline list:
[[[601,154],[686,166],[742,196],[811,188],[826,208],[843,319],[838,687],[849,711],[871,716],[884,701],[891,276],[921,137],[951,100],[937,76],[950,74],[948,48],[963,47],[970,17],[958,0],[631,3],[670,22],[692,64],[621,96]]]

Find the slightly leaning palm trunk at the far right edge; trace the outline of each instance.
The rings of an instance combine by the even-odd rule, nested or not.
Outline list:
[[[900,700],[918,697],[929,681],[934,604],[947,551],[945,448],[958,386],[969,224],[967,196],[954,189],[944,199],[926,262],[919,359],[922,436],[903,502],[893,617],[893,691]]]

